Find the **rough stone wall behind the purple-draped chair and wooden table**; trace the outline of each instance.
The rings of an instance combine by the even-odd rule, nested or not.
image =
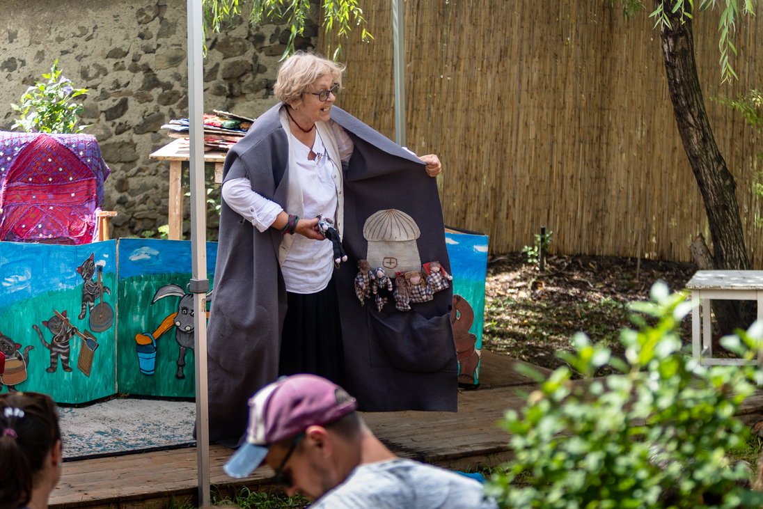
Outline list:
[[[149,154],[172,139],[159,127],[188,115],[185,0],[0,0],[0,130],[11,130],[28,85],[43,81],[58,59],[63,76],[90,90],[84,132],[94,134],[111,168],[105,210],[118,211],[112,236],[167,223],[169,163]],[[298,48],[317,45],[318,8]],[[256,117],[277,100],[272,84],[288,31],[283,24],[239,21],[207,40],[204,111]],[[188,214],[188,199],[185,200]],[[214,227],[214,214],[209,225]],[[214,232],[213,232],[214,237]]]

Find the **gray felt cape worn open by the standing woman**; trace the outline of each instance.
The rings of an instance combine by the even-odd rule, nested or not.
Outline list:
[[[288,136],[276,105],[253,124],[225,159],[224,182],[248,176],[254,191],[286,202]],[[334,106],[331,118],[353,139],[355,150],[343,167],[343,246],[349,259],[335,269],[340,304],[346,390],[361,411],[456,411],[458,366],[449,318],[452,289],[434,300],[378,313],[361,306],[354,291],[356,263],[365,259],[365,220],[395,208],[413,217],[421,234],[422,263],[450,263],[443,212],[435,179],[423,163],[387,137]],[[220,240],[208,327],[210,439],[225,445],[246,430],[246,401],[278,377],[286,290],[278,266],[282,234],[260,233],[222,202]],[[394,278],[394,274],[391,274]],[[288,354],[288,353],[287,353]]]

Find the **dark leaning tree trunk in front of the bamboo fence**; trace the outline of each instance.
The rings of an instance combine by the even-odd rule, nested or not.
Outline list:
[[[659,4],[662,0],[655,2]],[[680,9],[670,13],[674,2],[664,2],[671,24],[671,27],[663,25],[660,29],[665,74],[678,132],[705,204],[715,266],[721,270],[749,270],[750,261],[736,202],[736,182],[713,137],[697,77],[691,18],[682,24]],[[745,320],[748,311],[737,304],[722,306],[729,311],[719,312],[716,308],[716,321],[721,332],[731,333],[736,327],[749,325]]]

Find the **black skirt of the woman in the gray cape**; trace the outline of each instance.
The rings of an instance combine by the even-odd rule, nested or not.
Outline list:
[[[333,278],[313,294],[287,292],[278,375],[311,373],[344,384],[344,348]]]

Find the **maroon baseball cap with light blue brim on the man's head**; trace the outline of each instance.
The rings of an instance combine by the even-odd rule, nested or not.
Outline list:
[[[260,466],[272,444],[344,417],[358,403],[339,385],[320,376],[291,375],[259,389],[249,407],[246,443],[223,466],[235,478],[246,477]]]

